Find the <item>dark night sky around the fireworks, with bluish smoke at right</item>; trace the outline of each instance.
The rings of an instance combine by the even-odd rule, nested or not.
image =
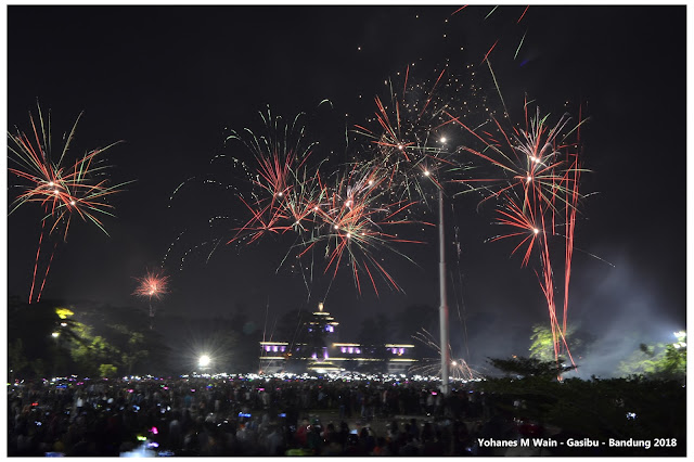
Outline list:
[[[117,218],[105,220],[110,236],[73,223],[43,296],[142,304],[131,295],[133,278],[157,268],[184,232],[167,260],[167,312],[245,307],[262,323],[267,304],[270,320],[314,307],[325,281],[307,301],[300,275],[275,274],[284,252],[272,240],[222,246],[207,264],[193,253],[180,270],[183,247],[208,239],[206,214],[232,206],[202,187],[170,202],[174,190],[210,172],[229,129],[260,129],[266,105],[292,118],[331,100],[334,111],[316,130],[330,140],[331,130],[339,134],[372,115],[384,79],[408,64],[416,63],[411,72],[421,78],[446,60],[479,65],[499,40],[490,60],[509,106],[520,107],[527,93],[545,112],[558,114],[569,102],[590,117],[582,136],[593,172],[583,191],[597,194],[583,203],[576,230],[569,319],[605,342],[626,331],[660,338],[684,328],[685,7],[532,5],[520,24],[524,7],[500,7],[487,20],[491,8],[452,14],[458,8],[8,7],[9,128],[28,129],[37,98],[52,111],[56,138],[85,111],[75,152],[125,140],[107,152],[111,175],[137,180],[112,200]],[[7,222],[8,293],[23,298],[40,231],[30,205]],[[518,256],[509,258],[509,245],[484,243],[498,230],[468,205],[454,204],[451,223],[462,248],[450,265],[462,280],[462,301],[451,294],[451,322],[460,323],[459,310],[467,316],[477,359],[523,354],[530,325],[548,322],[537,278]],[[382,287],[380,297],[369,291],[360,297],[349,272],[338,273],[325,304],[347,336],[364,316],[438,306],[437,247],[428,238],[427,245],[403,248],[419,266],[386,260],[407,294]],[[454,288],[461,293],[460,284]]]

